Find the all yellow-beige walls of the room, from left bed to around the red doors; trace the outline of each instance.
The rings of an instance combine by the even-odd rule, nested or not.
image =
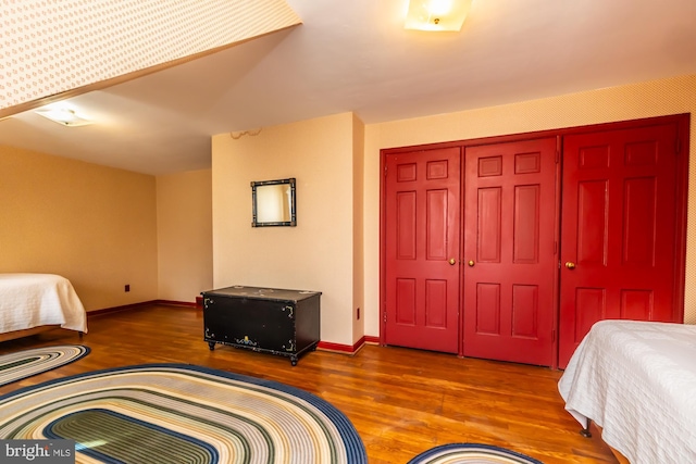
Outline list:
[[[0,272],[65,275],[88,311],[233,284],[319,290],[322,340],[352,344],[380,334],[381,149],[689,112],[696,76],[366,126],[344,113],[215,136],[212,171],[157,179],[0,147]],[[252,228],[249,183],[284,177],[297,178],[298,226]],[[689,179],[694,205],[696,163]],[[692,324],[695,246],[691,208]]]

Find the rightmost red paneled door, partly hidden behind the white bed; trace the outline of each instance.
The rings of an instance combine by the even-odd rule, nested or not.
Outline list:
[[[597,321],[676,322],[675,142],[671,124],[564,137],[560,367]]]

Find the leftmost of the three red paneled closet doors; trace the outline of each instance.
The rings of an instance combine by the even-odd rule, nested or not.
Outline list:
[[[386,158],[387,344],[458,351],[460,163],[459,148]]]

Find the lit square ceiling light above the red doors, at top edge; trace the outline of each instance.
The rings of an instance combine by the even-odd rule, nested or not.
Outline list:
[[[472,0],[410,0],[405,28],[460,30]]]

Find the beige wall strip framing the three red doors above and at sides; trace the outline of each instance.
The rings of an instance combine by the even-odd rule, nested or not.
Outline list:
[[[365,334],[380,334],[380,150],[505,134],[696,113],[696,76],[365,126]],[[692,116],[691,156],[696,156]],[[696,324],[696,162],[689,164],[685,319]]]

